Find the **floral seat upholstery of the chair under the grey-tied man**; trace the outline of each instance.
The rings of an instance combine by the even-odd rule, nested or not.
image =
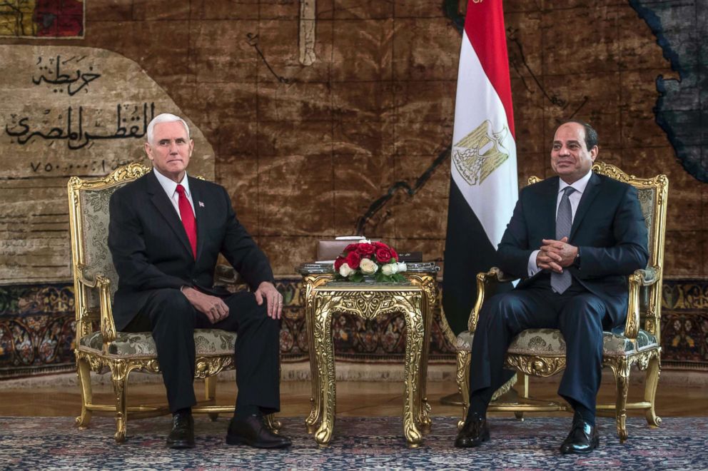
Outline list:
[[[457,350],[472,351],[474,333],[465,330],[457,335]],[[657,338],[646,330],[639,330],[636,346],[631,340],[612,332],[602,333],[603,355],[631,355],[647,348],[656,348]],[[565,339],[557,329],[527,329],[517,335],[509,346],[509,353],[517,355],[565,355]]]

